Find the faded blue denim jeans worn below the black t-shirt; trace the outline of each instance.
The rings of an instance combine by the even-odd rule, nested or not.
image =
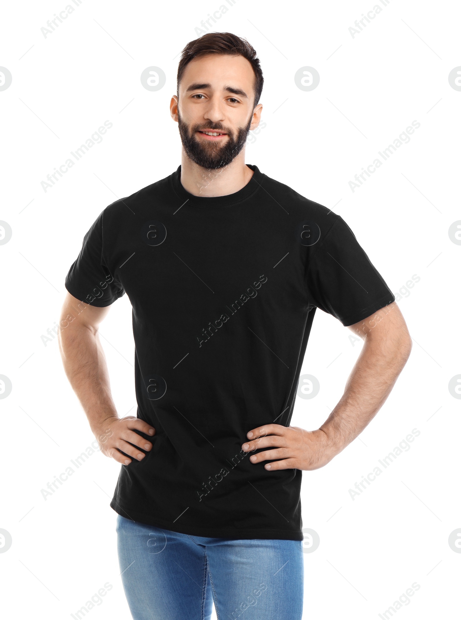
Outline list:
[[[190,536],[118,515],[118,560],[134,620],[301,620],[302,541]]]

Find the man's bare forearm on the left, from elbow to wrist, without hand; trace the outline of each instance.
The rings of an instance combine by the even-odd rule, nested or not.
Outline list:
[[[59,332],[59,350],[69,383],[96,435],[105,420],[118,417],[97,330],[69,324]]]

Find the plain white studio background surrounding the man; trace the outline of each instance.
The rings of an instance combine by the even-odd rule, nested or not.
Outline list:
[[[0,246],[2,355],[12,382],[1,403],[0,554],[8,618],[70,618],[110,582],[88,616],[130,618],[109,507],[120,466],[93,454],[52,497],[41,489],[94,441],[64,375],[56,339],[64,278],[84,233],[105,206],[171,174],[180,138],[170,120],[179,54],[221,0],[130,3],[83,0],[55,32],[40,32],[68,0],[22,2],[2,11],[0,92],[2,210],[12,238]],[[237,0],[215,29],[246,37],[265,77],[263,130],[246,161],[339,213],[392,291],[418,283],[398,303],[413,351],[377,417],[328,466],[303,473],[305,528],[320,536],[305,553],[303,618],[377,618],[413,582],[420,588],[398,618],[459,614],[461,554],[460,401],[448,389],[459,360],[459,255],[448,229],[461,219],[461,65],[457,2],[390,0],[354,36],[349,27],[375,0]],[[209,29],[211,30],[211,29]],[[165,86],[140,75],[159,66]],[[299,89],[312,66],[320,84]],[[105,120],[113,126],[53,187],[40,183]],[[421,126],[355,192],[349,181],[411,125]],[[136,415],[131,306],[112,306],[100,333],[120,415]],[[292,425],[317,428],[340,398],[361,342],[317,311],[301,374],[320,382],[297,398]],[[333,361],[334,360],[334,361]],[[349,489],[413,428],[420,435],[354,500]]]

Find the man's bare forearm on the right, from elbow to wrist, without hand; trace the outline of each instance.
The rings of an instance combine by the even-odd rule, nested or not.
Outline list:
[[[387,339],[367,335],[343,396],[320,427],[335,454],[346,448],[380,410],[410,351],[408,332],[393,334]]]

